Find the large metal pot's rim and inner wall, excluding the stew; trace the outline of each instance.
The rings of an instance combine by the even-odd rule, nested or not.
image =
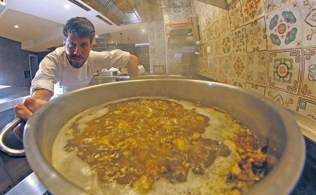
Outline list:
[[[244,194],[289,194],[302,172],[305,147],[292,116],[263,96],[232,86],[194,80],[138,80],[103,84],[59,96],[38,109],[26,124],[24,147],[31,168],[55,195],[86,194],[51,165],[52,144],[74,115],[111,100],[135,96],[168,96],[219,107],[248,128],[259,140],[269,138],[268,174]],[[62,157],[60,157],[62,158]]]

